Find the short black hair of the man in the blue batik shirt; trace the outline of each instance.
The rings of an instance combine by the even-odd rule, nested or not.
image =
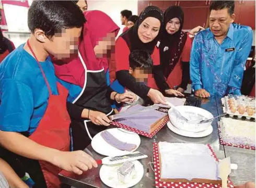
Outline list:
[[[234,14],[235,2],[234,1],[213,1],[210,6],[210,12],[212,10],[228,9],[229,15]]]

